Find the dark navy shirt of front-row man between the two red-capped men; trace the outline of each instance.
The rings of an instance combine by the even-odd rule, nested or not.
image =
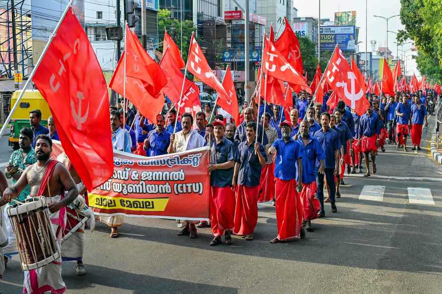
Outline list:
[[[238,172],[238,185],[255,187],[259,186],[261,178],[262,166],[259,162],[258,154],[255,154],[255,140],[250,145],[247,145],[247,141],[244,141],[238,145],[236,150],[236,158],[239,163]],[[264,147],[258,143],[259,151],[267,161],[266,151]]]

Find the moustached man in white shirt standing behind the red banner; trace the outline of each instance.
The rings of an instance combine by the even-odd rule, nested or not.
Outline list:
[[[204,138],[198,134],[197,130],[192,130],[193,116],[190,113],[184,113],[181,116],[182,131],[170,135],[170,145],[168,153],[180,152],[199,147],[204,147]],[[183,228],[177,233],[178,236],[189,235],[189,238],[197,238],[195,224],[198,221],[176,220],[178,228]]]

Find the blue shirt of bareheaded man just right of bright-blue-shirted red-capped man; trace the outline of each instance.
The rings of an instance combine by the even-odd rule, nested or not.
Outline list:
[[[316,180],[316,162],[325,159],[326,153],[318,139],[312,135],[309,136],[307,145],[304,146],[301,136],[298,138],[298,143],[304,147],[302,152],[302,183],[309,184]]]

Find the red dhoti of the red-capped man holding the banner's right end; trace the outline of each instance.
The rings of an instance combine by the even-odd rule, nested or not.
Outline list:
[[[235,195],[230,187],[211,187],[209,200],[210,223],[215,237],[232,230],[235,217]]]

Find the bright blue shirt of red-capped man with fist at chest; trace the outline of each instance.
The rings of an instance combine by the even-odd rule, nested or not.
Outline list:
[[[283,181],[295,179],[296,161],[302,157],[304,149],[302,145],[290,138],[287,143],[283,139],[278,139],[272,146],[276,148],[275,177]]]

